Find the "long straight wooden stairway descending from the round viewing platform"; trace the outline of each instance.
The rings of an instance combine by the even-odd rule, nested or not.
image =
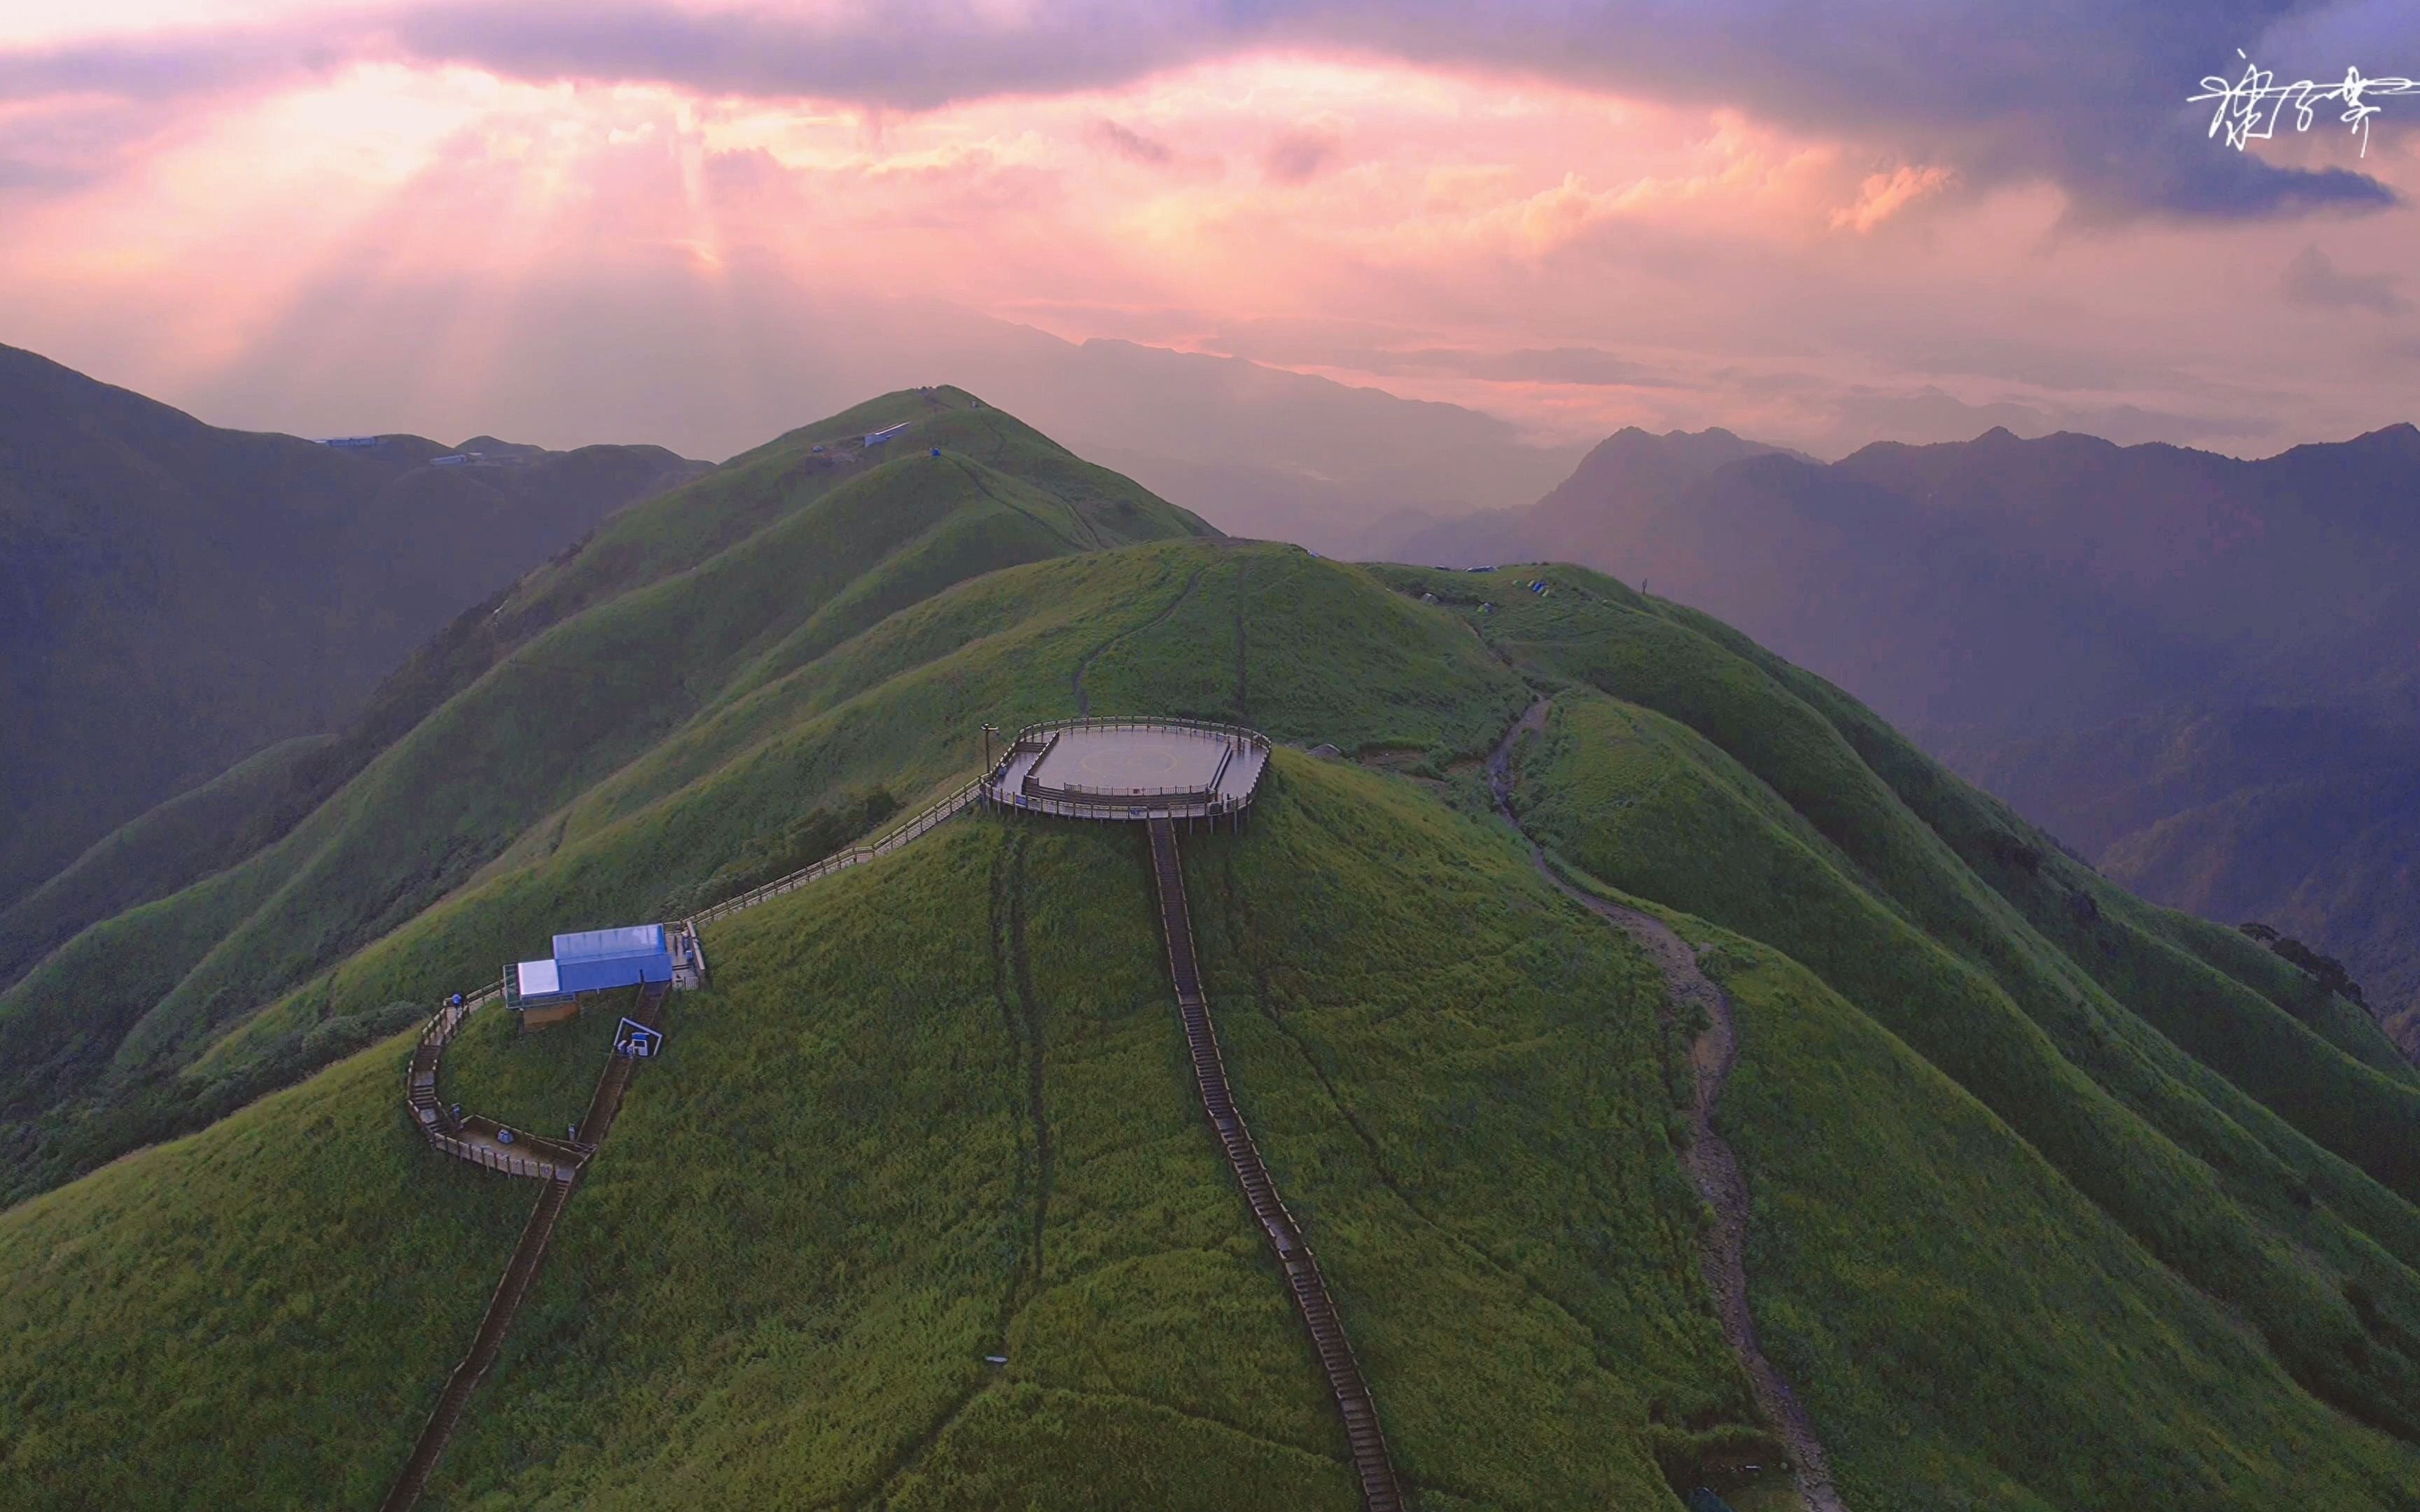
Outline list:
[[[1234,1178],[1244,1188],[1251,1217],[1258,1219],[1261,1231],[1268,1234],[1268,1243],[1278,1253],[1278,1265],[1285,1268],[1285,1285],[1295,1294],[1295,1311],[1302,1314],[1302,1323],[1312,1331],[1312,1347],[1319,1350],[1319,1367],[1329,1377],[1329,1393],[1336,1398],[1336,1413],[1346,1422],[1346,1442],[1353,1447],[1353,1471],[1360,1476],[1362,1505],[1370,1512],[1401,1512],[1404,1490],[1394,1478],[1394,1461],[1387,1456],[1387,1435],[1379,1432],[1377,1406],[1370,1401],[1370,1386],[1353,1360],[1353,1343],[1336,1318],[1336,1302],[1319,1275],[1319,1260],[1302,1243],[1295,1214],[1278,1198],[1278,1185],[1268,1178],[1268,1164],[1261,1161],[1261,1149],[1251,1142],[1244,1115],[1234,1110],[1234,1093],[1227,1086],[1227,1062],[1220,1060],[1217,1031],[1210,1023],[1200,968],[1193,960],[1193,917],[1186,910],[1186,873],[1176,854],[1176,827],[1164,818],[1154,818],[1150,830],[1152,871],[1159,878],[1159,927],[1169,941],[1169,977],[1176,982],[1176,1014],[1186,1026],[1186,1048],[1193,1055],[1193,1084],[1200,1089],[1203,1113],[1210,1118],[1210,1130],[1227,1152],[1227,1166],[1234,1168]]]

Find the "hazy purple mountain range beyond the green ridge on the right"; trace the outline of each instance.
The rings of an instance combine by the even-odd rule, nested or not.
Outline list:
[[[1571,559],[1738,624],[2149,898],[2340,953],[2420,1052],[2415,481],[2413,426],[2258,462],[1621,431],[1387,554]]]

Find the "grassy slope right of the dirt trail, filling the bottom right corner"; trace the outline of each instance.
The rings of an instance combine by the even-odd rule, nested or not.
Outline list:
[[[1752,1045],[1723,1123],[1764,1195],[1757,1316],[1851,1507],[2415,1505],[2408,1444],[2299,1391],[1873,1016],[1684,934],[1721,941]]]

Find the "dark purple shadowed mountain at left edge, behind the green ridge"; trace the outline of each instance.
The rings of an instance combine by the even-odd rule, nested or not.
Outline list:
[[[162,798],[339,728],[460,610],[704,469],[622,445],[428,467],[443,452],[218,431],[0,348],[0,907]]]

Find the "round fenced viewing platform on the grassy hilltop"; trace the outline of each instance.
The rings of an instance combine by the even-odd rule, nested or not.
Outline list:
[[[1016,731],[983,801],[1074,820],[1220,820],[1251,806],[1268,735],[1191,719],[1062,719]]]

